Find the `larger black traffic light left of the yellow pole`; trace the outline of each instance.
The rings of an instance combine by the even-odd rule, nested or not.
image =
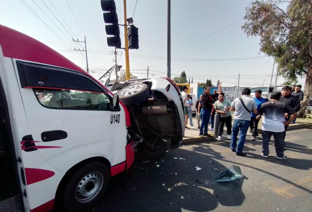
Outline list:
[[[107,35],[114,35],[114,37],[107,37],[107,45],[121,48],[120,31],[118,25],[118,16],[116,12],[116,4],[114,0],[101,0],[101,7]]]

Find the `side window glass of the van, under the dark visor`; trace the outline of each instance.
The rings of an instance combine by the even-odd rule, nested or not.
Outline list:
[[[73,110],[110,110],[110,98],[105,93],[78,90],[34,89],[38,102],[47,108]]]

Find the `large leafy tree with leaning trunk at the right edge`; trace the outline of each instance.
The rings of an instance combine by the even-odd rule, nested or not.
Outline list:
[[[306,75],[298,112],[303,117],[312,95],[312,0],[254,1],[244,19],[242,30],[247,37],[260,36],[260,51],[275,59],[281,76],[294,81]]]

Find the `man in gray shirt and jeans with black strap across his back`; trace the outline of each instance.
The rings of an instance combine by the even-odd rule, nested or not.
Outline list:
[[[257,104],[254,99],[250,98],[250,93],[251,90],[249,88],[244,88],[241,91],[241,98],[234,99],[230,109],[231,111],[235,111],[230,148],[233,152],[236,151],[236,155],[239,156],[246,155],[246,153],[243,152],[243,148],[251,120],[251,112],[254,114],[258,113]],[[239,139],[236,148],[238,131]]]

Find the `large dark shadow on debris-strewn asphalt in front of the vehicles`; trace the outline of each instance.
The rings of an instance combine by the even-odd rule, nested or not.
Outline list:
[[[112,178],[103,200],[90,211],[209,211],[219,203],[242,205],[245,195],[241,187],[248,178],[214,182],[213,177],[228,168],[213,159],[222,156],[209,145],[194,147],[194,151],[182,147],[146,163],[137,156],[127,173]],[[202,169],[197,171],[195,166]]]

